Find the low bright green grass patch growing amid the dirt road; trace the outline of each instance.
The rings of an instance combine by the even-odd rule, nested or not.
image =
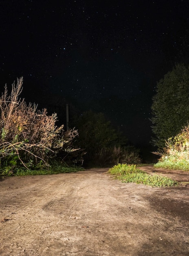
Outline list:
[[[136,165],[118,164],[109,169],[109,173],[122,182],[134,182],[152,187],[176,186],[178,182],[162,175],[150,175],[136,168]]]

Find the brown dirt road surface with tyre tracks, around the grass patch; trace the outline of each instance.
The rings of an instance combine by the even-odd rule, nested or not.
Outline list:
[[[0,181],[0,255],[189,255],[189,174],[141,169],[185,183],[126,184],[108,169]]]

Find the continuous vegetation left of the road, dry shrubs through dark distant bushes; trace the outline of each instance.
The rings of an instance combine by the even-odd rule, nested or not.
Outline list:
[[[46,175],[110,167],[117,163],[140,164],[139,151],[106,120],[103,113],[84,112],[70,124],[57,126],[57,115],[48,115],[20,98],[23,78],[7,85],[0,97],[0,176]],[[79,135],[79,136],[78,136]]]

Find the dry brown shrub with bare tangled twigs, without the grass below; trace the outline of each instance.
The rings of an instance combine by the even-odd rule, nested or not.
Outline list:
[[[19,98],[23,78],[13,83],[11,94],[7,86],[0,98],[0,157],[17,155],[22,163],[35,159],[48,161],[60,151],[72,152],[72,141],[77,130],[64,131],[57,127],[57,115],[48,116],[46,109],[37,110],[37,105],[26,104]]]

